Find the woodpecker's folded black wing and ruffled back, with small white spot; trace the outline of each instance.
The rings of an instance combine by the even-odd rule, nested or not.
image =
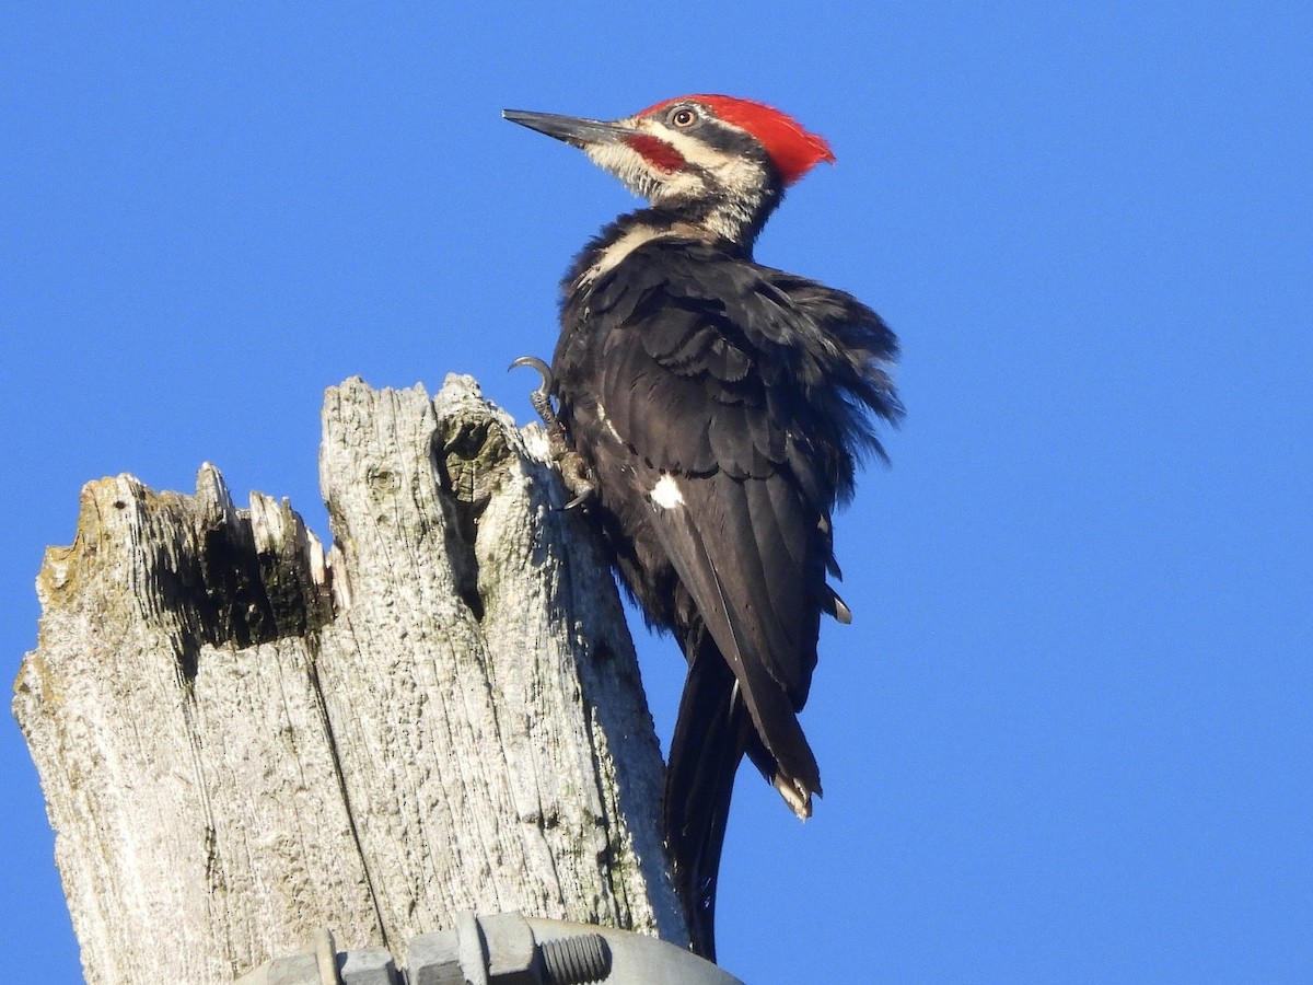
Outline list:
[[[835,605],[830,512],[874,445],[864,408],[897,415],[893,336],[847,294],[695,240],[641,247],[587,305],[599,416],[777,779],[805,801],[819,775],[796,712]]]

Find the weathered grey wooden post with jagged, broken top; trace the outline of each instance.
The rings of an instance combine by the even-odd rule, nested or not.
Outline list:
[[[89,483],[14,713],[91,982],[230,982],[460,910],[683,942],[605,562],[467,378],[327,394],[332,549],[286,502]]]

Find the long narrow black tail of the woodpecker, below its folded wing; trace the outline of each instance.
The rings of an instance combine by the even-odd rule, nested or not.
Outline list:
[[[734,674],[710,634],[704,634],[689,663],[670,746],[666,844],[693,951],[710,961],[716,960],[716,883],[734,775],[754,737]]]

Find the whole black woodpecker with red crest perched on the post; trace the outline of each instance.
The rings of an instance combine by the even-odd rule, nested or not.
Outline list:
[[[666,839],[693,950],[714,960],[743,755],[801,818],[821,793],[797,712],[821,613],[851,617],[826,583],[839,575],[830,515],[861,453],[882,456],[871,415],[902,415],[886,374],[897,341],[850,294],[752,259],[785,188],[834,160],[784,113],[684,96],[613,122],[503,116],[579,147],[650,202],[607,226],[562,281],[537,405],[582,460],[576,491],[625,586],[688,659]]]

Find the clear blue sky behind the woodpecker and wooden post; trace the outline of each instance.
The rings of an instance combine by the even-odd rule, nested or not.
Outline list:
[[[632,200],[504,106],[769,101],[838,155],[759,259],[899,332],[838,523],[800,826],[741,779],[748,982],[1305,981],[1313,967],[1308,4],[11,4],[0,666],[129,471],[316,489],[322,391],[471,373],[520,420],[557,280]],[[530,374],[532,376],[532,374]],[[670,641],[638,632],[668,738]],[[7,977],[77,981],[0,724]]]

